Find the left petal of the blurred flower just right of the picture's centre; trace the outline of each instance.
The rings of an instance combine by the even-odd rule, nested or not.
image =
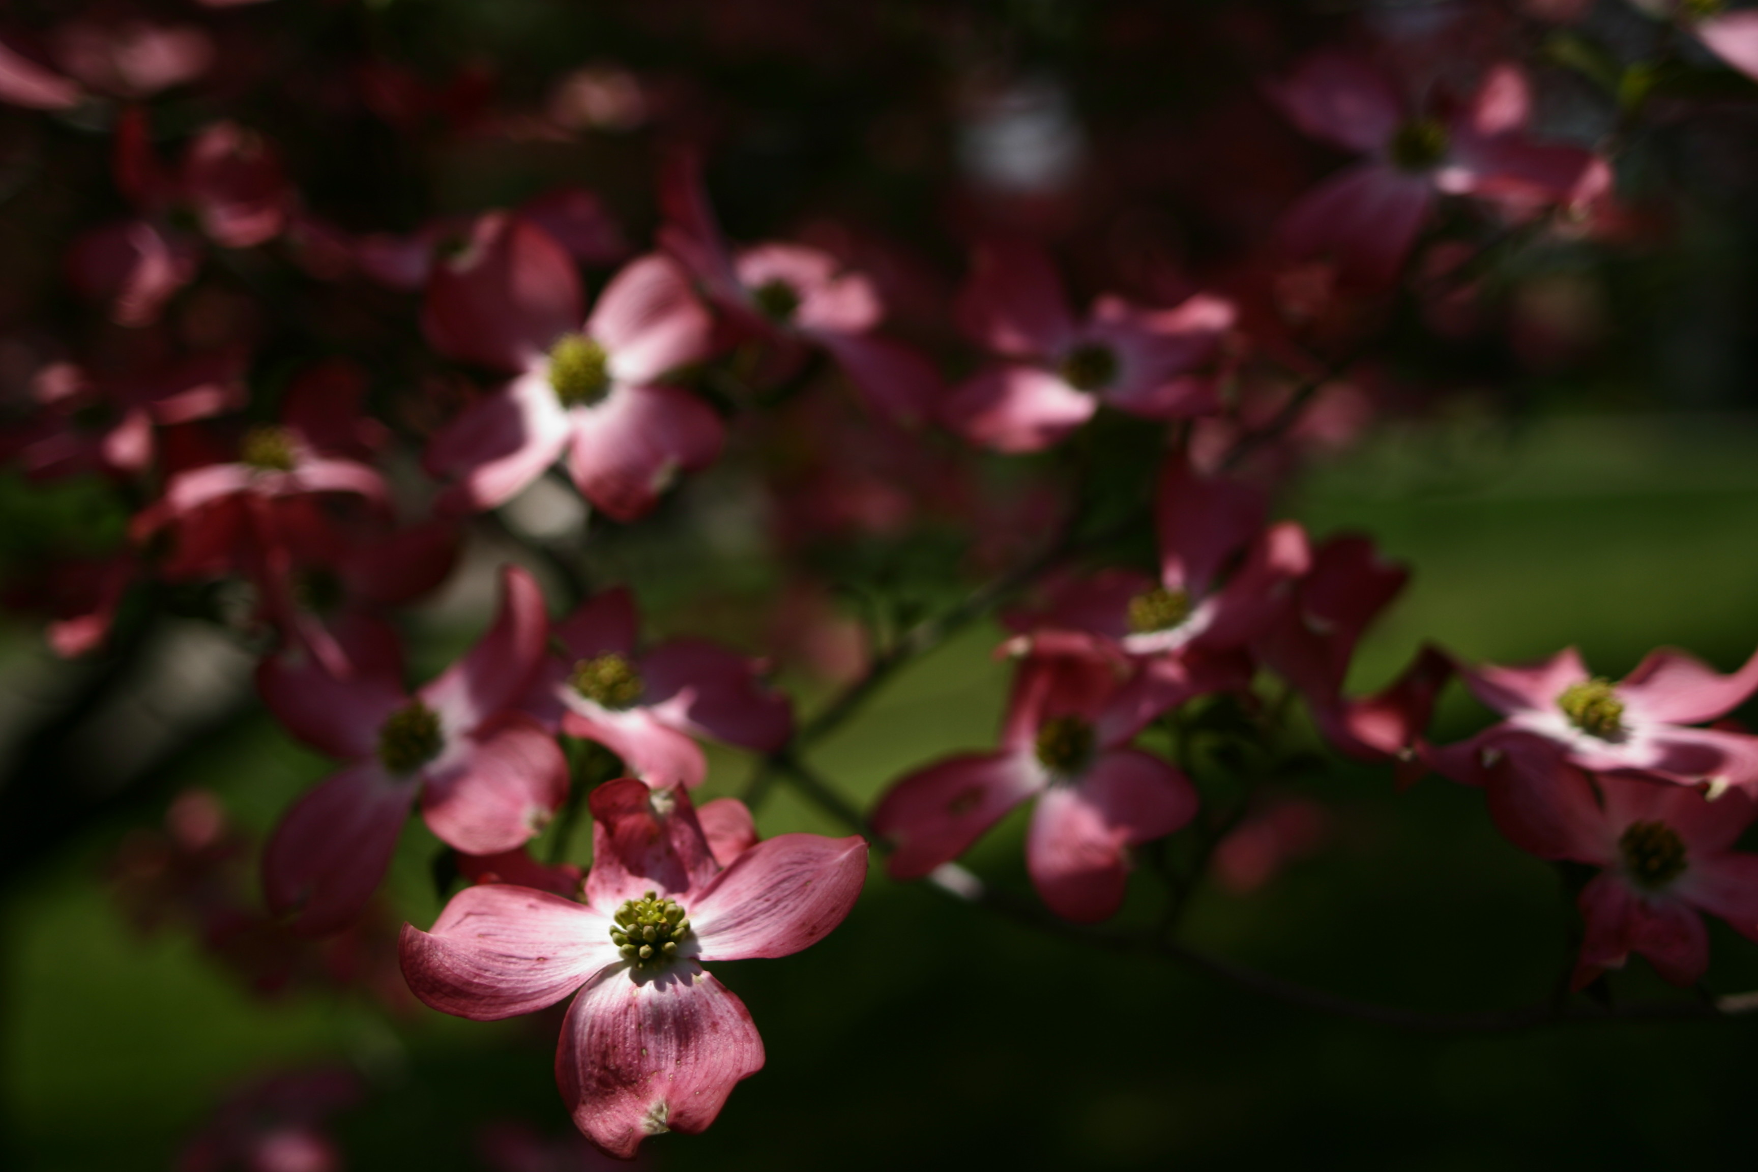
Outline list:
[[[1016,752],[962,754],[916,770],[886,791],[872,815],[874,833],[893,847],[886,872],[921,879],[956,859],[1041,784],[1042,771]]]

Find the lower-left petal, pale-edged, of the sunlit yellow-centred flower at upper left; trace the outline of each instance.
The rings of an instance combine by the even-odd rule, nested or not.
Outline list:
[[[457,478],[445,511],[478,513],[505,504],[543,474],[568,446],[568,413],[541,376],[526,376],[478,399],[427,445],[427,469]]]

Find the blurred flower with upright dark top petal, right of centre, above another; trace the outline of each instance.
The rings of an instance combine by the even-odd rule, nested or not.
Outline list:
[[[1183,457],[1167,460],[1160,473],[1155,520],[1159,582],[1113,569],[1053,585],[1042,610],[1009,617],[1009,626],[1028,631],[1020,647],[1042,648],[1067,643],[1069,633],[1090,633],[1129,655],[1188,657],[1238,648],[1287,608],[1289,592],[1311,562],[1299,525],[1264,527],[1262,494],[1199,476]],[[1218,661],[1210,666],[1220,671],[1213,687],[1229,687],[1238,675],[1250,678],[1248,668],[1241,673]]]

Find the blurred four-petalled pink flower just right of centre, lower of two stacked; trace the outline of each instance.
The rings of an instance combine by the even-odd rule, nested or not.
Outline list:
[[[893,847],[886,870],[919,879],[1037,798],[1025,842],[1032,886],[1064,919],[1109,917],[1123,903],[1129,847],[1171,835],[1197,810],[1183,773],[1129,747],[1190,694],[1146,666],[1120,675],[1101,659],[1027,659],[999,750],[937,761],[879,799],[872,828]]]

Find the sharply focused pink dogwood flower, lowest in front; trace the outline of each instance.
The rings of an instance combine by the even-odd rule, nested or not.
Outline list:
[[[455,894],[432,931],[403,930],[403,972],[432,1009],[494,1021],[575,989],[556,1082],[615,1156],[714,1123],[763,1067],[749,1010],[703,963],[789,956],[823,940],[867,879],[860,836],[781,835],[721,868],[682,791],[592,791],[585,903],[506,886]]]

